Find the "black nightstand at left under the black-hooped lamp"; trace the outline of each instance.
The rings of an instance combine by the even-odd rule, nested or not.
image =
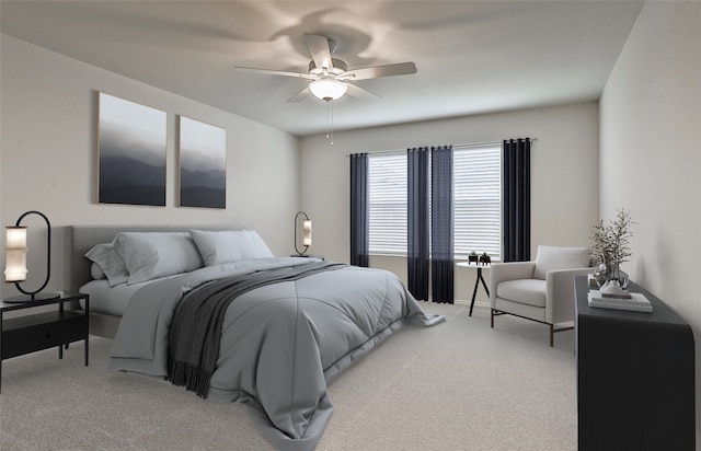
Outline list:
[[[54,299],[9,303],[0,300],[0,382],[2,360],[37,350],[58,347],[58,358],[64,358],[64,345],[85,340],[85,367],[88,366],[88,338],[90,324],[90,297],[83,293],[60,291]],[[64,303],[84,300],[83,310],[66,310]],[[58,309],[4,320],[5,312],[58,304]]]

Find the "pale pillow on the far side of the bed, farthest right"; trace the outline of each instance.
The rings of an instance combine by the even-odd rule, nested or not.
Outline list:
[[[272,258],[261,236],[249,230],[191,230],[205,266],[223,265],[248,258]]]

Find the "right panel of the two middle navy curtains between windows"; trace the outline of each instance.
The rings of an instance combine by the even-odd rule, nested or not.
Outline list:
[[[430,292],[434,302],[453,303],[452,146],[430,149]]]

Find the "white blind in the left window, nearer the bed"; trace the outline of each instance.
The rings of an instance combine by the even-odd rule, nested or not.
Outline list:
[[[406,152],[369,155],[369,252],[406,255]]]

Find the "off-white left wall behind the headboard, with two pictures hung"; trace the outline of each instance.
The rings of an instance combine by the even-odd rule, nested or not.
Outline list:
[[[299,204],[299,139],[280,130],[85,65],[2,35],[0,43],[0,217],[13,224],[26,210],[54,226],[49,290],[62,289],[64,226],[241,223],[257,230],[274,253],[291,250],[291,218]],[[193,81],[196,82],[196,81]],[[99,205],[96,92],[139,102],[168,114],[166,206]],[[227,208],[179,208],[176,115],[227,130]],[[44,279],[44,222],[30,235],[30,280]],[[3,223],[5,226],[5,223]],[[4,233],[2,233],[4,247]],[[4,267],[4,254],[2,254]],[[36,270],[33,270],[36,268]],[[32,277],[33,276],[33,277]],[[36,280],[39,280],[36,282]],[[2,296],[16,292],[2,284]]]

